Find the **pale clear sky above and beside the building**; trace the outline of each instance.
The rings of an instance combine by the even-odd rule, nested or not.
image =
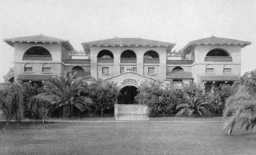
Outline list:
[[[140,37],[176,43],[216,37],[251,41],[241,74],[256,68],[256,0],[0,0],[0,82],[13,67],[4,38],[44,34],[82,42]]]

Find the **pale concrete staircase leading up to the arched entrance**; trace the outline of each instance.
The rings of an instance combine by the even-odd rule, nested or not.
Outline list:
[[[115,119],[121,121],[148,121],[147,106],[140,104],[115,104]]]

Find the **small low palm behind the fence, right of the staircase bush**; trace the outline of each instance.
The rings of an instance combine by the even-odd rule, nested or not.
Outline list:
[[[176,109],[179,110],[176,115],[203,115],[210,113],[206,108],[208,103],[204,102],[201,97],[189,97],[185,96],[185,103],[178,104]]]

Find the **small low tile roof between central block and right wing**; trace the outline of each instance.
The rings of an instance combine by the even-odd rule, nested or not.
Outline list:
[[[193,79],[193,75],[185,71],[166,72],[166,79]]]

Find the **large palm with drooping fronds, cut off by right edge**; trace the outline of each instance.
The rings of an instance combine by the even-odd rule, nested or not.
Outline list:
[[[228,118],[223,130],[227,130],[229,135],[237,123],[245,130],[253,129],[256,124],[256,70],[245,73],[243,78],[239,91],[227,98],[223,110],[223,117]]]

